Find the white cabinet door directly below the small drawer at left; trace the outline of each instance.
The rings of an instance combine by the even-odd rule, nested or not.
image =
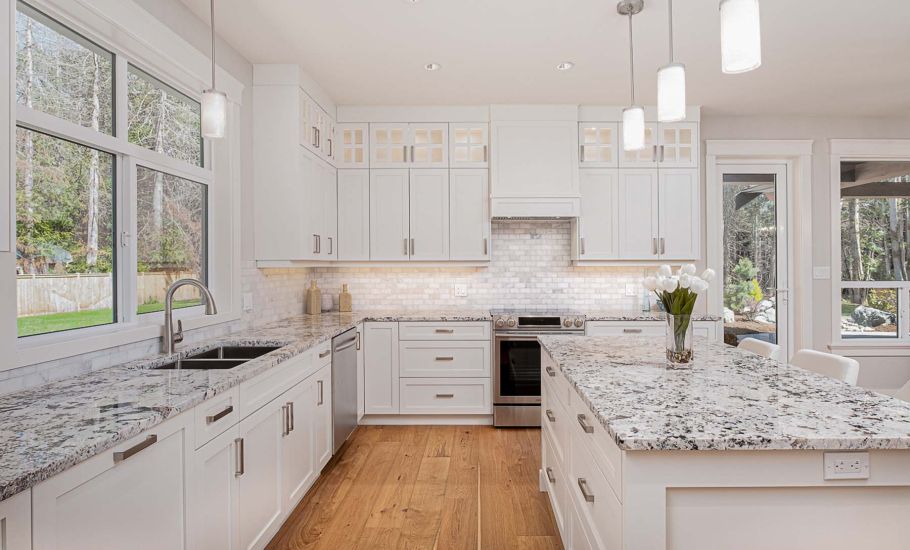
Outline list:
[[[193,453],[187,530],[194,550],[236,550],[240,428],[234,425]]]

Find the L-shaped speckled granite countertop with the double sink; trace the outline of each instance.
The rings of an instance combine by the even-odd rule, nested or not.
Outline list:
[[[22,492],[362,321],[488,321],[489,311],[411,311],[300,315],[188,346],[179,356],[220,345],[281,346],[230,370],[155,370],[176,355],[124,365],[0,396],[0,500]]]

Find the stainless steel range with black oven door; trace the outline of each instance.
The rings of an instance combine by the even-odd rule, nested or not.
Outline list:
[[[542,334],[584,334],[584,317],[493,312],[493,425],[540,426]]]

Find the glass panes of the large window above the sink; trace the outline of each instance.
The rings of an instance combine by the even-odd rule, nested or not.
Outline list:
[[[16,10],[18,335],[138,321],[175,280],[207,282],[200,104],[32,6]],[[199,300],[184,288],[175,306]]]

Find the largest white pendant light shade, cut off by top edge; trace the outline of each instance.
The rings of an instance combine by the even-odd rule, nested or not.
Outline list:
[[[720,53],[725,73],[745,73],[761,66],[758,0],[720,0]]]

